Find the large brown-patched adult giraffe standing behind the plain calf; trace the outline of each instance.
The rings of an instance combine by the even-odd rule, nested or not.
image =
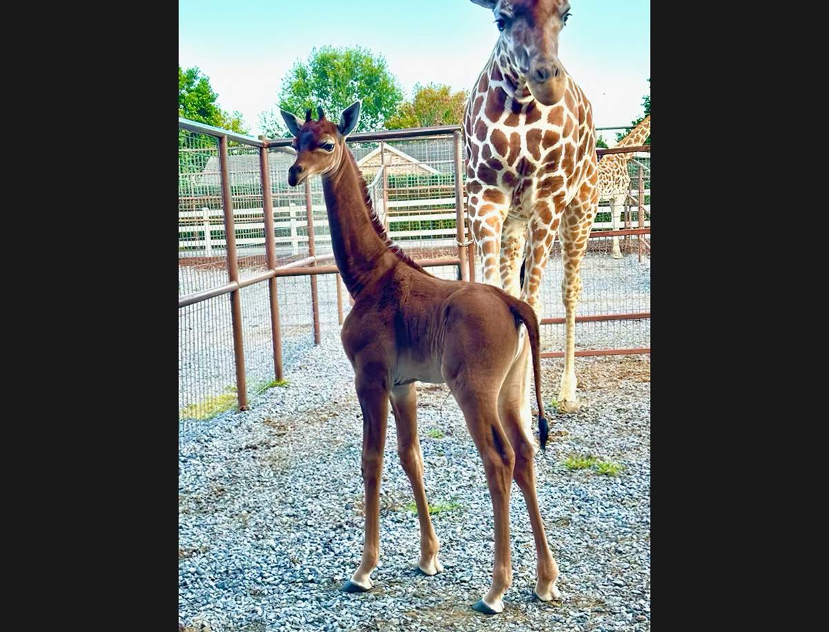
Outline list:
[[[566,327],[558,400],[561,411],[573,412],[579,407],[574,367],[579,267],[599,190],[592,106],[559,59],[570,3],[472,2],[492,9],[501,32],[464,117],[468,208],[483,280],[512,296],[520,293],[541,319],[541,276],[558,233]],[[522,262],[526,275],[519,287]],[[526,392],[526,369],[524,377]],[[523,401],[521,415],[529,419],[529,398]]]

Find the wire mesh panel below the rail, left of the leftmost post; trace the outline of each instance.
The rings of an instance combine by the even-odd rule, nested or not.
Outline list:
[[[178,310],[179,438],[236,405],[230,296]]]

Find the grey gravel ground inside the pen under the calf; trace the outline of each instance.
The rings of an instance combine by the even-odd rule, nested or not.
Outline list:
[[[361,415],[336,328],[323,332],[322,345],[288,367],[288,386],[266,391],[250,411],[205,422],[180,445],[180,630],[650,630],[648,357],[576,358],[583,406],[550,415],[551,442],[536,457],[562,599],[531,597],[535,549],[513,484],[513,586],[504,612],[487,617],[470,606],[491,579],[492,505],[444,385],[418,386],[426,493],[430,505],[454,507],[433,516],[444,572],[414,573],[418,524],[390,416],[375,588],[337,590],[361,556]],[[562,367],[543,361],[545,401],[556,395]],[[623,470],[570,470],[569,455]]]

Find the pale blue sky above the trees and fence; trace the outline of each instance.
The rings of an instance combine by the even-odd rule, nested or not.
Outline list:
[[[562,63],[594,106],[597,127],[642,114],[651,75],[649,0],[570,0]],[[178,61],[199,66],[219,105],[259,134],[259,112],[314,46],[385,56],[410,98],[416,82],[469,90],[497,41],[491,11],[470,0],[179,0]],[[613,134],[604,133],[608,142]]]

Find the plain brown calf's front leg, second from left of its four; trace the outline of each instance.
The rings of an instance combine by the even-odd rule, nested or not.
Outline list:
[[[397,454],[400,464],[414,493],[417,517],[420,524],[420,559],[418,568],[424,575],[434,575],[443,571],[438,562],[440,543],[429,517],[429,504],[426,502],[426,490],[423,485],[423,455],[417,437],[417,392],[414,383],[395,386],[391,389],[391,410],[395,413],[397,425]]]

